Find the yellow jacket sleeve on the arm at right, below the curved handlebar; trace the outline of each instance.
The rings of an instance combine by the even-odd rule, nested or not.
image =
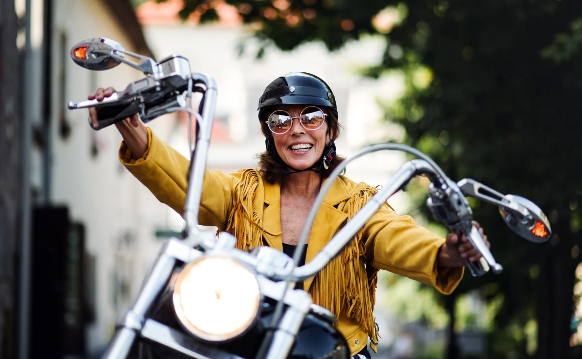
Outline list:
[[[418,280],[443,294],[450,294],[463,278],[462,267],[439,268],[437,255],[445,239],[417,225],[410,216],[399,216],[383,205],[363,228],[366,259],[385,269]]]

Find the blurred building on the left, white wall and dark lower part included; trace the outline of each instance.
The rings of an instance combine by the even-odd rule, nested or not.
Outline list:
[[[16,1],[20,14],[24,3]],[[140,72],[91,72],[74,65],[69,51],[107,37],[151,52],[129,0],[31,0],[30,15],[33,82],[24,106],[34,134],[33,248],[29,355],[20,355],[96,355],[141,285],[151,263],[143,250],[159,242],[151,226],[165,228],[165,212],[116,160],[118,132],[93,131],[87,111],[66,108],[98,87],[124,88]]]

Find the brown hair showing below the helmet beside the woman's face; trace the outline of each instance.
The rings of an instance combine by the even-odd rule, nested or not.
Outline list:
[[[335,141],[336,138],[339,137],[339,129],[340,129],[341,125],[339,124],[338,119],[336,119],[335,116],[333,116],[331,113],[329,113],[329,111],[326,111],[325,109],[324,109],[324,111],[327,113],[329,118],[331,118],[331,121],[328,122],[328,126],[330,126],[330,130],[331,130],[331,132],[330,132],[331,133],[331,140]],[[272,136],[271,130],[269,130],[267,123],[263,120],[261,120],[260,122],[261,122],[262,134],[264,134],[265,137]],[[275,158],[273,158],[271,155],[269,155],[268,151],[261,152],[260,154],[257,154],[257,158],[259,160],[258,161],[258,170],[261,173],[261,176],[268,183],[271,183],[271,184],[274,184],[277,182],[281,183],[281,175],[283,174],[283,172],[281,172],[281,170],[283,169],[281,162],[277,161]],[[332,159],[331,165],[329,166],[329,168],[325,169],[321,173],[322,178],[327,178],[329,175],[331,175],[333,170],[343,160],[344,160],[343,157],[336,154],[336,156]],[[345,170],[344,170],[344,172],[345,172]]]

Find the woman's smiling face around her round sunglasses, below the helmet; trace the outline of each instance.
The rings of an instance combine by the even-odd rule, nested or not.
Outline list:
[[[325,146],[329,143],[328,124],[317,130],[306,130],[299,121],[301,110],[306,105],[277,106],[272,111],[282,110],[293,117],[289,131],[283,134],[271,133],[279,157],[294,169],[308,169],[321,158]]]

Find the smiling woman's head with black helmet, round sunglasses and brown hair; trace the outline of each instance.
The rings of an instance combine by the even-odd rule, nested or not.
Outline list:
[[[335,152],[340,134],[335,97],[319,77],[304,72],[278,77],[265,89],[258,110],[267,147],[258,168],[268,183],[305,170],[326,178],[343,161]]]

